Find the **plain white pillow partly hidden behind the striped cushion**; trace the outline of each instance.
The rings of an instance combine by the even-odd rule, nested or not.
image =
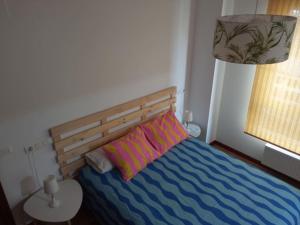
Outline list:
[[[114,167],[101,148],[87,153],[85,159],[86,162],[99,173],[106,173]]]

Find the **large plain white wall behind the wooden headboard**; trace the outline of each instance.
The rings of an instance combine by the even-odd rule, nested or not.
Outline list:
[[[190,0],[8,0],[0,4],[0,179],[11,207],[33,175],[24,146],[54,125],[177,85],[183,108]],[[58,173],[46,146],[39,180]],[[37,181],[40,182],[40,181]]]

